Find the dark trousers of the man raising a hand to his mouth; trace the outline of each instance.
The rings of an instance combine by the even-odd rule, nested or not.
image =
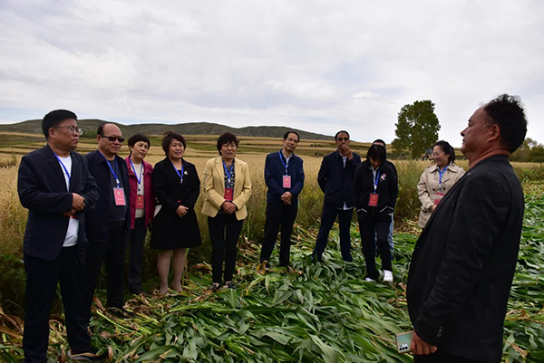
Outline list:
[[[331,232],[333,224],[335,224],[336,215],[338,215],[338,224],[340,228],[340,252],[344,261],[353,261],[351,255],[351,241],[349,227],[351,224],[354,209],[337,209],[335,207],[323,205],[323,213],[321,214],[321,226],[316,238],[316,248],[314,255],[317,259],[321,259],[321,255],[325,251],[328,234]]]

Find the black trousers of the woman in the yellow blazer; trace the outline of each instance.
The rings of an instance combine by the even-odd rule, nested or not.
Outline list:
[[[214,283],[221,283],[223,260],[225,261],[225,281],[231,282],[236,267],[237,244],[244,220],[238,221],[236,215],[218,214],[208,217],[209,239],[211,240],[211,269]]]

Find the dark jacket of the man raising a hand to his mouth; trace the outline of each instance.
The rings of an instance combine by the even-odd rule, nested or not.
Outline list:
[[[360,164],[361,157],[354,153],[351,160],[345,159],[344,167],[344,160],[338,150],[323,158],[317,174],[317,183],[325,193],[326,206],[340,209],[344,207],[344,203],[349,208],[355,206],[352,185],[355,170]]]

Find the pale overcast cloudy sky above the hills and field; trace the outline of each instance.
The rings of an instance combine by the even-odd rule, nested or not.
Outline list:
[[[519,95],[544,142],[544,2],[0,1],[0,122],[277,125],[390,142],[432,100],[440,138]]]

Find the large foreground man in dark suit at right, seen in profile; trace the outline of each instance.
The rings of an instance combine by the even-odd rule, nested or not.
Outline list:
[[[415,362],[500,362],[524,203],[508,158],[526,132],[520,100],[506,94],[461,131],[470,169],[432,213],[410,265]]]

